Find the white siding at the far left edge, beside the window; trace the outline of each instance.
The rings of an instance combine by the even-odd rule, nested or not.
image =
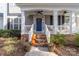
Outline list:
[[[0,3],[0,13],[3,13],[3,18],[0,18],[0,29],[5,29],[7,24],[7,3]]]

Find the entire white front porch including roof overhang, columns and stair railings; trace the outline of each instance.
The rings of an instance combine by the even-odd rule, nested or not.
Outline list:
[[[33,34],[45,34],[49,43],[51,34],[78,32],[76,5],[74,7],[61,4],[17,5],[22,12],[21,34],[28,37],[29,41],[32,41]]]

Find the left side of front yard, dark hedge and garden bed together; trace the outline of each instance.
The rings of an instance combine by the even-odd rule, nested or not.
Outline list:
[[[22,41],[19,30],[0,30],[0,56],[23,56],[31,48]]]

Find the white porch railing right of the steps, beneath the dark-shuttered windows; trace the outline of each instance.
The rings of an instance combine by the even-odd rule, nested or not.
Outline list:
[[[60,25],[57,27],[57,30],[55,30],[55,27],[53,25],[47,25],[47,28],[50,31],[50,34],[54,34],[55,31],[60,34],[69,34],[70,33],[69,25]]]

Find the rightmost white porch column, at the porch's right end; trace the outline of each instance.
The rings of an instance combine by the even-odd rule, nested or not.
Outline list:
[[[70,23],[70,31],[71,34],[76,32],[76,14],[75,11],[72,11],[71,13],[71,23]]]

